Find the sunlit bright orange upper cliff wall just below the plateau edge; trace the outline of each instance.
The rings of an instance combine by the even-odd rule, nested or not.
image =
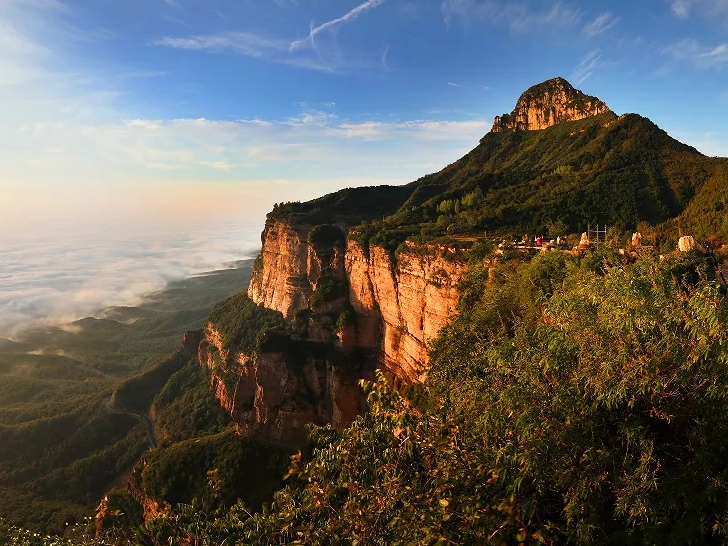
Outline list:
[[[370,351],[372,365],[400,383],[421,382],[427,343],[455,313],[463,265],[448,261],[443,257],[447,250],[438,248],[413,247],[396,261],[382,248],[365,249],[355,241],[348,241],[345,250],[323,252],[325,245],[308,242],[310,231],[310,226],[283,221],[266,224],[250,298],[292,318],[309,306],[322,271],[345,279],[348,291],[333,307],[350,305],[355,318],[340,329],[336,343],[346,350]]]

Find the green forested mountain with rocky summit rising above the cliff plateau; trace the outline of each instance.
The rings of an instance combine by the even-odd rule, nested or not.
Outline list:
[[[728,241],[728,159],[704,156],[647,118],[617,116],[562,78],[524,92],[475,149],[399,193],[343,190],[272,214],[315,210],[311,219],[326,221],[355,191],[351,201],[370,212],[358,231],[389,247],[413,235],[545,233],[550,225],[580,232],[589,223],[633,230],[640,222]]]

